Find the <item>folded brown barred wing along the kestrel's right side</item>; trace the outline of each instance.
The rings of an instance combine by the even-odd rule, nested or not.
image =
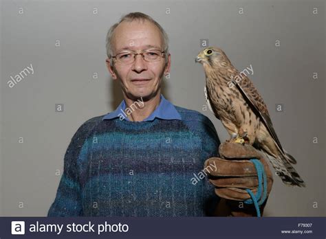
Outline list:
[[[274,130],[272,120],[270,120],[270,114],[268,113],[267,106],[263,102],[263,98],[261,98],[261,95],[259,95],[257,89],[254,87],[254,84],[252,84],[252,82],[247,76],[243,76],[239,83],[235,82],[235,80],[232,81],[233,84],[237,86],[237,89],[239,89],[246,102],[248,102],[248,104],[252,106],[254,113],[256,115],[259,115],[263,124],[268,129],[270,136],[272,137],[272,139],[274,139],[279,150],[281,150],[281,152],[285,154],[283,147],[281,146],[281,142],[279,141],[279,138],[277,137],[276,132]]]

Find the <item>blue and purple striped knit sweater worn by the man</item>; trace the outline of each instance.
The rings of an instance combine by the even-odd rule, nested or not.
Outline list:
[[[213,185],[191,179],[217,156],[219,138],[208,117],[175,109],[182,120],[87,120],[67,148],[47,216],[210,216]]]

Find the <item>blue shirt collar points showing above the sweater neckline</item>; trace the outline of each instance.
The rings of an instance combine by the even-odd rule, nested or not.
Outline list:
[[[105,115],[105,117],[102,118],[102,120],[111,120],[116,117],[123,118],[123,120],[130,121],[127,114],[124,112],[126,109],[126,103],[124,100],[119,104],[118,108]],[[132,109],[131,109],[132,111]],[[164,96],[160,95],[160,104],[157,106],[155,111],[149,115],[149,117],[146,117],[143,121],[151,121],[154,120],[155,117],[162,119],[162,120],[181,120],[181,115],[179,112],[177,112],[177,109],[175,109],[175,106],[171,104],[168,100],[164,98]]]

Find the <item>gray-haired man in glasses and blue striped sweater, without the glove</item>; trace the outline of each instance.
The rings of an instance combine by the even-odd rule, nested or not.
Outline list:
[[[171,67],[162,27],[146,14],[127,14],[109,29],[107,56],[124,100],[78,128],[48,216],[231,216],[237,206],[197,177],[218,155],[215,127],[161,94]],[[252,207],[241,210],[254,215]]]

